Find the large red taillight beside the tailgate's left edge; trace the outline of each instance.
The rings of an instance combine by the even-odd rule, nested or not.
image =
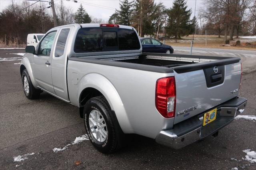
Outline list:
[[[165,118],[175,116],[176,87],[174,77],[156,81],[156,109]]]

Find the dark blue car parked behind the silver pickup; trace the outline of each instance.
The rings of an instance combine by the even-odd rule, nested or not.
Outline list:
[[[146,53],[173,53],[174,49],[170,45],[165,45],[154,38],[140,38],[142,52]]]

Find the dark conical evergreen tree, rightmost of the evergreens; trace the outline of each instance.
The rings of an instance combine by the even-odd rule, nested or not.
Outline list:
[[[185,0],[174,0],[169,13],[167,34],[175,37],[175,42],[181,36],[186,36],[193,31],[193,22],[190,20],[191,10],[187,10]]]

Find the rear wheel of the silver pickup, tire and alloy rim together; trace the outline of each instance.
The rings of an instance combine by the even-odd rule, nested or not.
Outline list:
[[[90,141],[100,152],[111,153],[121,147],[123,132],[104,96],[86,102],[84,125]]]

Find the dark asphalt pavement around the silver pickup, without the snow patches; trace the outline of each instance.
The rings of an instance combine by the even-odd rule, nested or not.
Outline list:
[[[19,73],[22,49],[0,49],[0,169],[255,169],[242,150],[256,151],[256,122],[234,120],[220,130],[180,150],[156,144],[153,139],[134,136],[130,144],[110,155],[94,149],[88,140],[53,152],[85,134],[78,109],[42,93],[38,100],[28,100],[22,91]],[[16,58],[1,61],[3,58]],[[240,95],[248,99],[242,115],[256,115],[256,74],[243,75]],[[31,154],[14,162],[14,156]],[[235,158],[236,160],[232,160]],[[76,166],[75,161],[81,163]],[[250,164],[250,166],[249,166]],[[18,166],[18,167],[16,167]]]

